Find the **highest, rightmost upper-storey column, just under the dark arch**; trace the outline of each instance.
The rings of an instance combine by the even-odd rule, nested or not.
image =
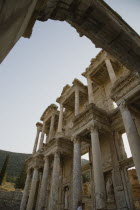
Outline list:
[[[113,84],[117,80],[117,78],[109,58],[105,58],[105,64],[109,74],[109,78],[111,80],[111,83]]]

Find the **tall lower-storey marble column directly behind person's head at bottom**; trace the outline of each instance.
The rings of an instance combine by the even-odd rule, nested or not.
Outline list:
[[[82,199],[81,173],[81,143],[80,138],[74,138],[73,153],[73,210],[77,210],[78,201]]]

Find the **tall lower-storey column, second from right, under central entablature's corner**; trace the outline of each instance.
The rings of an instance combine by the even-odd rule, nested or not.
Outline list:
[[[104,175],[102,168],[99,133],[96,126],[91,126],[90,131],[91,131],[96,209],[105,209],[106,206],[105,182],[104,182]]]

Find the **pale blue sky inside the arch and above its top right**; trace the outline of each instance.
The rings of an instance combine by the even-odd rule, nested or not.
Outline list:
[[[140,34],[139,0],[106,2]],[[81,73],[98,52],[65,22],[37,22],[32,37],[21,38],[0,65],[0,149],[32,152],[44,109],[74,78],[86,83]]]

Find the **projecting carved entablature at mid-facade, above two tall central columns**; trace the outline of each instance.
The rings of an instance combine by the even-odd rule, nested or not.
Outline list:
[[[73,132],[88,125],[90,121],[96,121],[98,124],[109,127],[108,114],[104,110],[98,108],[95,104],[89,104],[85,111],[74,118]]]

